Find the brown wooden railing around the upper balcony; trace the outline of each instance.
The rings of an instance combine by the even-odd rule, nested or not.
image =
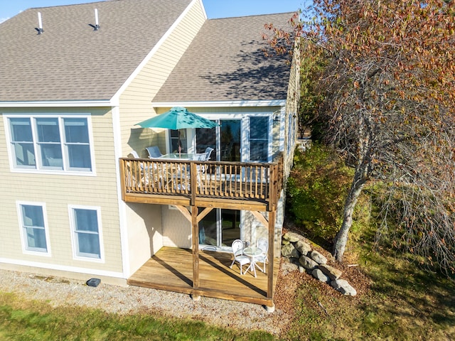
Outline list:
[[[257,200],[276,204],[282,158],[276,163],[120,158],[124,193]]]

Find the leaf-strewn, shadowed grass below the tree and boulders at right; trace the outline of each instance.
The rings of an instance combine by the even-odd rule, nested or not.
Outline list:
[[[349,244],[367,289],[355,297],[306,278],[287,340],[455,340],[455,283],[373,248],[373,229]],[[343,276],[342,276],[343,277]]]

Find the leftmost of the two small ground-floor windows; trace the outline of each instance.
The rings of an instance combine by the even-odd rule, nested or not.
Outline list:
[[[43,207],[43,204],[18,203],[18,215],[21,222],[21,235],[25,251],[49,253],[48,233]]]

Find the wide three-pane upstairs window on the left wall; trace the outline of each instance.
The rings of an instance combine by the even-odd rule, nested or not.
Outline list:
[[[9,117],[14,168],[92,172],[87,117]]]

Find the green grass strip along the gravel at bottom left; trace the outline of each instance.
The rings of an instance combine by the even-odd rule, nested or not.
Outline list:
[[[0,340],[273,340],[267,332],[240,332],[198,321],[154,315],[116,315],[58,307],[0,293]]]

